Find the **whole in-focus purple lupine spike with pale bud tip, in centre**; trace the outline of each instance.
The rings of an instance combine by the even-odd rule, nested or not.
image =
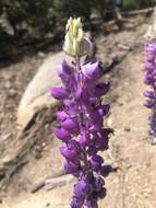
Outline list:
[[[71,208],[97,208],[97,200],[106,195],[104,176],[108,165],[99,151],[108,149],[110,128],[103,127],[103,118],[109,105],[101,104],[101,96],[109,91],[109,83],[99,78],[103,70],[99,62],[83,62],[92,44],[82,28],[81,19],[68,21],[63,50],[73,57],[58,66],[62,88],[52,88],[51,95],[59,100],[62,109],[57,113],[59,127],[53,135],[63,145],[64,171],[77,178],[73,188]]]

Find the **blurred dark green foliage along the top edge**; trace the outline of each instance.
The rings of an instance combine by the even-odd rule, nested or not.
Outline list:
[[[140,9],[154,1],[156,0],[122,0],[122,7],[124,10]],[[0,0],[0,15],[7,19],[15,37],[60,37],[70,16],[82,16],[85,22],[89,22],[92,11],[96,9],[105,20],[107,11],[116,2],[117,0]],[[1,22],[0,31],[4,31]]]

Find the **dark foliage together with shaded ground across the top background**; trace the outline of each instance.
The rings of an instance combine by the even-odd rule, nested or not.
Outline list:
[[[156,0],[1,0],[0,59],[17,55],[19,48],[38,50],[59,43],[69,16],[82,16],[87,30],[97,31],[107,21],[120,19],[120,12],[125,15],[155,3]]]

